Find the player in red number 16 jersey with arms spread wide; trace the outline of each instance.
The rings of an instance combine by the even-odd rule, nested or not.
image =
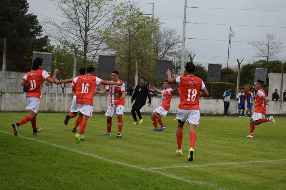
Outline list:
[[[79,104],[79,111],[82,114],[82,120],[80,122],[80,128],[78,133],[76,134],[76,143],[80,143],[80,140],[84,140],[85,135],[85,127],[87,125],[87,120],[92,116],[93,111],[93,95],[97,85],[118,85],[122,86],[123,83],[120,82],[111,82],[111,81],[103,81],[99,79],[95,75],[95,68],[88,67],[87,74],[78,76],[74,79],[65,79],[62,81],[58,81],[60,83],[74,83],[77,85],[76,87],[76,103]]]

